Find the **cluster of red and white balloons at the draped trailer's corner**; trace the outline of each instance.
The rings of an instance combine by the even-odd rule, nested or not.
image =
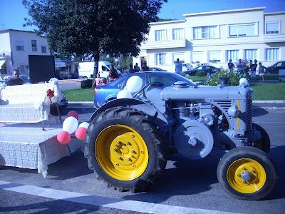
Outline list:
[[[89,123],[83,122],[78,126],[78,113],[69,111],[67,118],[63,121],[63,130],[56,136],[59,143],[65,145],[71,141],[71,134],[76,133],[76,138],[83,141],[86,137],[86,131]]]

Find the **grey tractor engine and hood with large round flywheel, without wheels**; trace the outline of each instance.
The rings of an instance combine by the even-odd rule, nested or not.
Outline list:
[[[252,131],[252,89],[245,84],[209,87],[177,82],[160,96],[173,124],[172,143],[186,158],[204,158],[213,148],[247,146],[261,138]]]

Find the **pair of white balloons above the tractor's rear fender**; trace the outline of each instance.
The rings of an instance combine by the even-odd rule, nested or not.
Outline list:
[[[140,76],[131,76],[125,88],[119,91],[117,98],[132,98],[132,93],[139,91],[140,88],[142,88],[142,78],[140,78]]]

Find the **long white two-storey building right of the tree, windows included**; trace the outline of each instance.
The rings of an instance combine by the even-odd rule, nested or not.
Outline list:
[[[265,7],[183,14],[185,20],[150,23],[150,33],[133,63],[175,71],[174,61],[210,63],[257,59],[264,66],[285,60],[285,11]]]

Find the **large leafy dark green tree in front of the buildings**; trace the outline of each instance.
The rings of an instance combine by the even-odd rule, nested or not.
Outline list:
[[[59,54],[138,56],[148,23],[167,0],[23,0],[26,24],[37,26]],[[94,77],[97,71],[94,71]]]

